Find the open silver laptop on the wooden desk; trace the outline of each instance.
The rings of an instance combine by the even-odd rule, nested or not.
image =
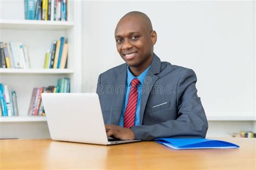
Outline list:
[[[42,100],[53,140],[99,145],[139,141],[107,138],[96,93],[43,93]]]

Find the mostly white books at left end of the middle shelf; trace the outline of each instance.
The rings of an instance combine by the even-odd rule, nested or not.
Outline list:
[[[30,68],[28,48],[21,42],[0,42],[0,68]]]

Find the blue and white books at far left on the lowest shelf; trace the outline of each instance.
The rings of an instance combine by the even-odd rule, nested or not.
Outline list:
[[[16,92],[3,83],[0,83],[0,102],[0,116],[18,116]]]

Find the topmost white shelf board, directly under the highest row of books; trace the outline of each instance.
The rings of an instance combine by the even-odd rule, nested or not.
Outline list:
[[[63,21],[10,19],[0,20],[0,29],[67,30],[72,26],[74,26],[73,22]]]

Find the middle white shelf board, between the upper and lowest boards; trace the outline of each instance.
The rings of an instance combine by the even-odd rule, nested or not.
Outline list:
[[[73,74],[73,69],[15,69],[0,68],[1,74]]]

